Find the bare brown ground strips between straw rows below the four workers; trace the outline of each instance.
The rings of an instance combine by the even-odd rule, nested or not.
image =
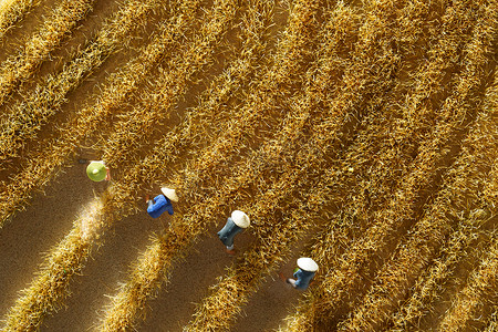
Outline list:
[[[43,255],[58,243],[72,227],[74,217],[106,184],[91,183],[84,166],[68,168],[59,180],[51,184],[45,195],[38,195],[24,211],[19,212],[0,232],[0,314],[3,317],[27,287],[42,262]],[[145,205],[145,204],[144,204]],[[115,293],[118,282],[126,281],[128,267],[148,245],[152,232],[167,225],[168,216],[153,219],[144,211],[124,218],[106,235],[100,248],[71,286],[71,297],[65,307],[49,315],[40,331],[87,331],[102,318],[101,310],[110,303],[104,294]],[[220,220],[220,227],[225,220]],[[249,232],[237,237],[238,249],[250,245]],[[172,274],[156,300],[151,302],[145,323],[138,331],[181,331],[189,320],[195,303],[208,294],[208,287],[216,282],[234,258],[224,251],[216,237],[216,229],[203,238],[185,262]],[[294,257],[282,266],[290,273]],[[252,301],[245,307],[232,331],[264,331],[277,328],[287,310],[300,292],[281,282],[277,276],[262,284]]]

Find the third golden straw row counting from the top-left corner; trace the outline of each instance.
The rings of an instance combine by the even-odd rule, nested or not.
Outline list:
[[[132,31],[149,20],[147,14],[159,3],[159,0],[125,2],[60,73],[48,75],[23,96],[23,101],[12,105],[8,118],[1,124],[0,160],[15,156],[27,139],[35,138],[41,126],[65,103],[66,94],[97,69]]]

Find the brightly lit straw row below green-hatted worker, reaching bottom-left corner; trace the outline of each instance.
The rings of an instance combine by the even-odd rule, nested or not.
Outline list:
[[[212,97],[217,97],[216,93]],[[157,168],[160,163],[158,160],[156,165],[149,164],[152,166],[149,170]],[[53,311],[60,303],[66,294],[71,278],[83,268],[95,239],[103,235],[103,229],[123,217],[118,212],[123,208],[123,200],[116,197],[134,195],[131,188],[151,178],[151,175],[143,175],[143,167],[134,170],[127,174],[125,183],[121,185],[114,183],[104,195],[95,199],[90,209],[92,214],[82,215],[75,220],[73,230],[50,252],[40,276],[33,280],[29,289],[24,290],[24,295],[11,309],[7,326],[11,329],[37,326],[43,315]],[[120,191],[120,188],[125,190]]]

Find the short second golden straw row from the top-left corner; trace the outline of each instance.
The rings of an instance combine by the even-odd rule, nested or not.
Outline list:
[[[85,18],[94,2],[95,0],[62,1],[43,27],[22,46],[19,54],[8,58],[0,64],[0,105],[17,85],[35,72],[77,22]]]

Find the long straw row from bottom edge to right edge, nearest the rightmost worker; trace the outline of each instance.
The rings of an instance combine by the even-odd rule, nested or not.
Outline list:
[[[382,329],[391,311],[405,297],[416,277],[426,269],[437,248],[445,242],[454,219],[465,211],[468,216],[464,217],[461,224],[477,228],[483,222],[480,219],[485,218],[483,214],[496,214],[492,207],[483,206],[478,198],[478,184],[486,183],[489,165],[498,155],[498,144],[489,139],[489,135],[498,136],[498,112],[494,108],[487,111],[478,115],[475,126],[464,141],[463,153],[445,177],[442,191],[426,209],[424,218],[414,225],[409,238],[398,245],[398,249],[380,270],[360,307],[346,321],[341,322],[341,330]],[[483,212],[473,214],[470,210]],[[471,237],[471,232],[467,236]]]

